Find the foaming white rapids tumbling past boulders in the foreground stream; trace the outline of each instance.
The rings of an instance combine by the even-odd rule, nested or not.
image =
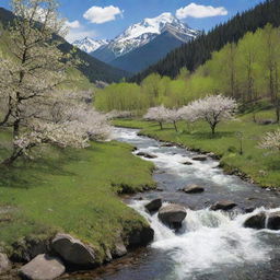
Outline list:
[[[261,240],[261,232],[245,229],[245,220],[260,211],[280,211],[279,209],[257,209],[249,214],[236,214],[231,218],[222,211],[209,209],[187,210],[187,218],[178,233],[168,229],[144,210],[148,201],[133,201],[130,206],[141,213],[154,230],[153,248],[171,256],[178,280],[190,277],[194,272],[214,271],[221,265],[243,266],[244,264],[266,262],[270,260],[272,247]],[[280,236],[280,232],[273,232]],[[187,278],[188,279],[188,278]],[[195,278],[191,278],[195,279]]]

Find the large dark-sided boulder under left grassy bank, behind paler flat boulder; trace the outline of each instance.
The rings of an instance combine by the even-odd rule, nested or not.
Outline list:
[[[72,265],[92,267],[95,264],[93,248],[69,234],[58,233],[51,242],[51,248]]]

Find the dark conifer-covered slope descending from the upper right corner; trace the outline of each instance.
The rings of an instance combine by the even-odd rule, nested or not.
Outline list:
[[[175,78],[183,67],[194,71],[211,58],[211,54],[220,50],[228,43],[237,42],[247,32],[255,32],[267,23],[280,25],[280,0],[267,0],[254,9],[236,14],[229,22],[218,25],[208,34],[201,34],[195,40],[184,44],[171,51],[160,62],[132,77],[131,82],[141,82],[151,73]]]

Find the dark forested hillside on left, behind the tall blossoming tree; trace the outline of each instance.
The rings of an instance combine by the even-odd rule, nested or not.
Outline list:
[[[0,8],[0,24],[3,26],[3,28],[7,28],[8,24],[12,22],[14,19],[14,15],[11,11],[8,11],[3,8]],[[73,46],[66,42],[62,37],[59,37],[61,40],[61,45],[59,48],[63,52],[69,52],[71,49],[73,49]],[[0,37],[1,42],[1,37]],[[114,68],[112,66],[106,65],[103,61],[97,60],[96,58],[90,56],[89,54],[78,49],[75,55],[79,59],[85,62],[85,65],[79,66],[79,70],[91,81],[105,81],[107,83],[112,82],[118,82],[124,77],[128,77],[129,73]]]

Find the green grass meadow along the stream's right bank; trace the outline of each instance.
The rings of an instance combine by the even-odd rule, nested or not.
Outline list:
[[[273,119],[272,110],[257,114],[257,120]],[[141,120],[115,120],[115,125],[131,128],[142,128],[141,133],[184,144],[195,150],[214,152],[221,156],[221,163],[229,172],[237,168],[249,175],[256,183],[267,187],[280,187],[280,153],[259,149],[258,142],[267,131],[279,128],[278,125],[262,126],[253,122],[252,114],[240,116],[236,120],[222,122],[217,128],[214,137],[206,122],[196,122],[191,129],[186,124],[178,124],[179,132],[175,132],[172,125],[164,125],[164,129],[155,122]],[[236,131],[244,135],[244,154],[241,155]]]

